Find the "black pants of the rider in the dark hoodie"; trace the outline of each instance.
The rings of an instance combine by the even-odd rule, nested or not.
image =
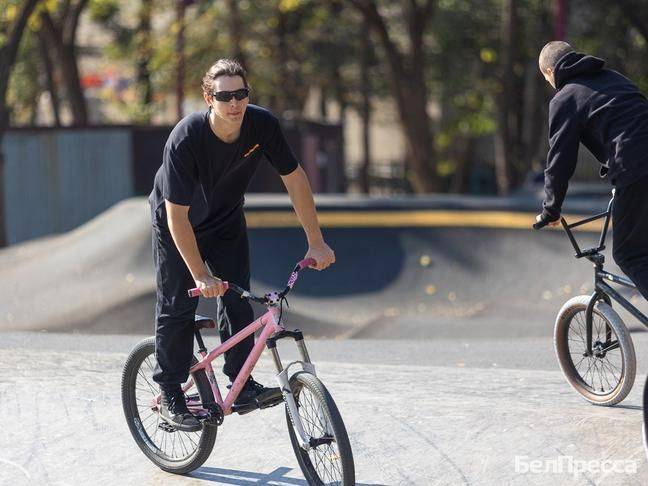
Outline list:
[[[614,261],[648,299],[648,177],[616,190],[612,220]]]

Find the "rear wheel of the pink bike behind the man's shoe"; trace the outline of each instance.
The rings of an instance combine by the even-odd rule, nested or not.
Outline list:
[[[193,358],[193,362],[197,362]],[[153,381],[155,369],[155,338],[141,341],[131,351],[122,373],[122,405],[128,427],[135,442],[156,466],[175,473],[187,474],[199,468],[209,457],[218,428],[202,423],[197,432],[183,432],[168,426],[160,417],[152,400],[159,394]],[[193,376],[200,396],[211,396],[204,372]]]

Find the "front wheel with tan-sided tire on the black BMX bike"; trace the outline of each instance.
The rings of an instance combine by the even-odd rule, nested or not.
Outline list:
[[[585,313],[590,299],[580,295],[560,309],[554,328],[556,356],[567,382],[585,400],[594,405],[615,405],[634,384],[634,345],[619,315],[599,301],[592,313],[593,354],[587,354]]]

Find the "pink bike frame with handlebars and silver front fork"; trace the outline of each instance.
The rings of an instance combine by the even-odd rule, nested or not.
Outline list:
[[[267,306],[268,311],[210,352],[207,352],[207,348],[205,347],[202,335],[200,334],[200,328],[196,327],[194,334],[196,341],[198,342],[198,353],[201,356],[201,360],[190,368],[190,379],[183,387],[183,391],[186,392],[194,385],[194,373],[204,370],[205,374],[207,375],[215,403],[196,403],[193,400],[188,400],[187,407],[191,410],[192,413],[194,413],[198,417],[216,416],[216,422],[220,425],[219,422],[222,421],[222,418],[224,416],[236,412],[237,410],[234,402],[241,393],[241,390],[243,389],[243,386],[247,382],[248,378],[252,374],[252,370],[259,361],[259,358],[261,357],[261,353],[263,352],[263,348],[265,346],[268,348],[272,355],[275,367],[277,369],[276,379],[279,383],[279,388],[283,395],[283,399],[286,402],[286,406],[288,407],[291,422],[295,428],[295,431],[297,432],[297,437],[300,439],[300,444],[305,450],[308,450],[312,447],[311,437],[306,434],[301,420],[299,420],[297,404],[295,402],[293,392],[290,388],[290,377],[288,376],[288,371],[293,365],[300,365],[304,371],[315,375],[315,366],[311,363],[308,350],[306,349],[306,344],[304,343],[304,335],[302,334],[302,332],[299,330],[287,331],[285,329],[281,320],[281,302],[283,297],[285,297],[285,295],[296,283],[298,272],[314,263],[315,260],[312,259],[302,260],[301,262],[299,262],[295,267],[293,273],[291,274],[284,291],[281,293],[271,292],[269,294],[266,294],[264,298],[255,297],[248,291],[245,291],[237,287],[236,285],[224,282],[226,288],[228,288],[230,291],[235,291],[241,296],[241,298],[248,298],[257,302],[263,302]],[[189,295],[198,296],[200,295],[200,291],[198,291],[198,289],[191,289],[189,291]],[[245,360],[243,367],[236,376],[234,383],[232,383],[232,387],[229,393],[227,394],[225,399],[223,399],[220,389],[218,388],[218,382],[216,380],[214,368],[212,367],[212,362],[217,357],[232,349],[245,338],[253,335],[260,329],[263,329],[261,331],[261,334],[257,338],[252,351]],[[284,368],[279,356],[279,352],[277,351],[277,341],[286,337],[291,337],[295,340],[301,360],[293,361]],[[160,400],[160,396],[156,397],[156,399],[154,400],[156,402],[155,405],[157,406]],[[214,410],[215,406],[217,407],[216,410]],[[218,416],[220,416],[220,421],[218,419]]]

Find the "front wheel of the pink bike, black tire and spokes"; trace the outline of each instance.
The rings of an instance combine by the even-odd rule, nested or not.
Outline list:
[[[302,409],[306,408],[305,401],[310,400],[309,405],[314,404],[320,407],[321,413],[319,414],[319,425],[323,425],[321,424],[321,420],[324,418],[327,422],[326,425],[328,425],[327,431],[332,433],[334,438],[333,443],[337,448],[337,454],[335,454],[333,443],[324,445],[324,447],[327,448],[326,451],[332,453],[329,457],[335,461],[335,463],[332,463],[331,471],[326,469],[324,460],[315,461],[316,465],[314,465],[312,457],[315,455],[318,455],[318,458],[322,457],[319,454],[320,452],[321,454],[324,454],[323,450],[317,451],[317,449],[323,447],[323,445],[310,449],[311,452],[305,451],[301,448],[299,440],[297,439],[297,433],[294,430],[291,421],[290,411],[288,410],[288,407],[286,407],[286,421],[288,423],[290,443],[292,444],[293,451],[297,457],[297,462],[299,463],[299,467],[304,473],[308,484],[318,486],[327,484],[339,484],[341,486],[354,485],[355,466],[353,463],[351,444],[349,443],[349,437],[346,428],[344,427],[344,422],[342,421],[340,412],[338,411],[331,394],[316,376],[305,371],[300,371],[291,376],[290,388],[295,397],[298,410],[300,411],[300,418],[306,432],[313,432],[312,429],[316,426],[316,424],[309,425],[309,420],[305,420],[304,417],[302,417]],[[309,398],[306,398],[307,395]],[[302,404],[300,400],[304,401],[304,404]],[[312,420],[310,422],[312,422]],[[325,477],[323,478],[322,476]]]

